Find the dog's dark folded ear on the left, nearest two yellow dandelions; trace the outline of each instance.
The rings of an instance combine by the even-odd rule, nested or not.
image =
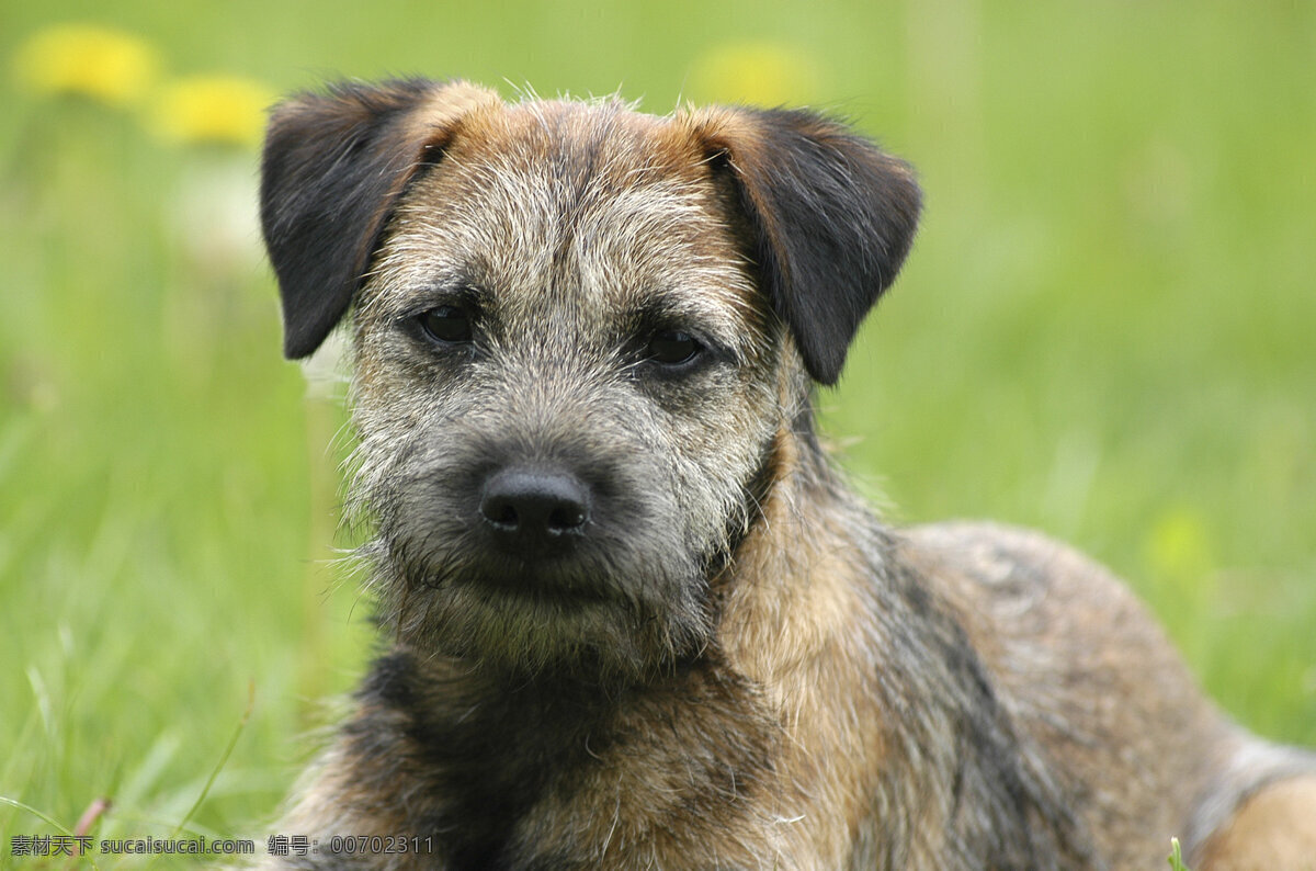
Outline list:
[[[312,354],[351,305],[399,195],[492,91],[421,79],[336,84],[275,107],[261,228],[279,279],[283,353]]]

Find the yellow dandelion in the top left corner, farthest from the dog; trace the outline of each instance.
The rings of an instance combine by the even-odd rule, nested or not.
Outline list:
[[[14,71],[37,93],[74,93],[126,105],[151,86],[155,51],[137,37],[89,24],[39,30],[18,47]]]

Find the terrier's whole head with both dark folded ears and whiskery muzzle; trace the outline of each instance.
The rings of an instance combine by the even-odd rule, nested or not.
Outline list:
[[[805,112],[428,82],[278,107],[284,350],[353,312],[355,493],[399,635],[626,675],[708,643],[711,579],[917,211],[905,164]]]

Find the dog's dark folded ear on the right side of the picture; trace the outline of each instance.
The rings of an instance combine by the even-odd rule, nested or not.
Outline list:
[[[859,322],[913,241],[913,171],[811,112],[719,107],[691,121],[705,153],[736,179],[763,292],[809,375],[834,384]]]

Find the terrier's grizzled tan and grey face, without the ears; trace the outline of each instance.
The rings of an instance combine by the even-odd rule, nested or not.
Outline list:
[[[392,217],[355,408],[407,635],[544,664],[707,633],[708,567],[782,417],[776,326],[700,157],[655,126],[467,118]]]

